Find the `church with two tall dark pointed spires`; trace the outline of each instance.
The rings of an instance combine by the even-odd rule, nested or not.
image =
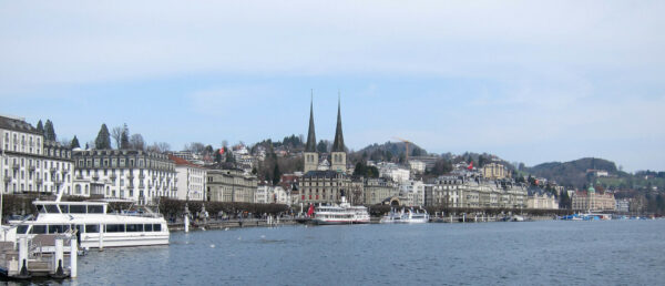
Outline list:
[[[339,203],[341,196],[349,198],[351,180],[347,175],[347,153],[341,133],[341,102],[337,103],[337,127],[335,141],[330,150],[329,166],[321,164],[320,154],[316,150],[314,129],[314,102],[309,105],[309,130],[307,144],[303,154],[304,172],[299,182],[300,201],[304,203]],[[324,162],[325,163],[325,162]]]

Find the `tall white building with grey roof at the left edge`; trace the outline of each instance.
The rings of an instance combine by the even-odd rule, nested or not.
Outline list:
[[[0,116],[0,192],[71,194],[72,151],[24,119]]]

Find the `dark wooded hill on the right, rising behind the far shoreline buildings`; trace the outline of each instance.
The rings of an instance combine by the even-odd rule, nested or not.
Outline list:
[[[614,162],[594,157],[584,157],[565,163],[543,163],[528,167],[525,171],[534,176],[554,180],[560,185],[582,187],[591,178],[591,174],[586,172],[587,170],[607,171],[610,175],[617,172]]]

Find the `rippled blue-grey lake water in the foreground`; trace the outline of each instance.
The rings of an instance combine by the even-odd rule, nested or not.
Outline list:
[[[81,285],[663,285],[665,219],[283,226],[91,251]]]

